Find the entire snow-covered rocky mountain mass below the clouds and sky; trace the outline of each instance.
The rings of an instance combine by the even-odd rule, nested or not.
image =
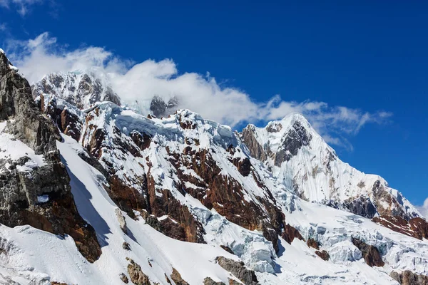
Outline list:
[[[302,116],[235,133],[61,88],[34,102],[0,53],[0,284],[427,284],[427,221]]]

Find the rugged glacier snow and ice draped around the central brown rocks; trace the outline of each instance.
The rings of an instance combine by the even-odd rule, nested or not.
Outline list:
[[[188,110],[179,111],[170,118],[159,120],[143,117],[111,103],[101,103],[92,110],[86,110],[86,113],[89,120],[85,128],[89,129],[92,125],[90,128],[92,133],[96,133],[98,128],[102,128],[105,132],[103,143],[93,149],[95,150],[93,153],[99,157],[104,167],[107,169],[112,167],[121,180],[130,183],[129,186],[134,185],[133,181],[138,181],[138,175],[149,173],[155,181],[158,193],[168,189],[173,193],[173,197],[180,201],[182,207],[190,209],[195,219],[203,226],[205,242],[230,247],[245,264],[258,271],[259,281],[264,280],[262,284],[287,284],[287,282],[289,284],[299,284],[299,282],[302,284],[305,282],[392,284],[394,281],[388,275],[393,270],[407,269],[419,274],[427,274],[426,241],[421,242],[392,232],[355,214],[301,201],[292,191],[287,190],[282,181],[272,176],[263,163],[249,157],[245,149],[240,148],[240,140],[226,126],[203,120],[199,115]],[[91,132],[82,132],[86,133],[86,138],[81,139],[83,145],[84,141],[92,140]],[[131,152],[123,152],[123,149],[115,147],[115,143],[118,142],[118,132],[121,133],[123,140],[135,132],[147,134],[151,138],[150,144],[141,151],[141,157],[131,155]],[[130,141],[128,140],[128,143],[133,145]],[[230,145],[235,149],[233,156],[227,151]],[[275,254],[261,234],[255,238],[257,232],[251,232],[230,223],[216,213],[217,209],[225,205],[213,203],[208,208],[203,204],[205,196],[202,199],[192,197],[193,195],[198,197],[197,193],[192,193],[192,189],[203,189],[206,186],[188,182],[189,177],[180,176],[176,167],[170,162],[170,153],[173,153],[173,150],[185,153],[188,147],[210,150],[213,160],[221,165],[220,172],[231,175],[236,183],[243,185],[244,201],[248,199],[256,204],[258,199],[254,197],[263,197],[263,193],[267,192],[272,193],[269,199],[282,209],[287,223],[297,228],[305,239],[312,238],[319,242],[321,249],[330,254],[330,260],[323,261],[315,255],[315,250],[308,248],[305,242],[297,239],[291,246],[280,239],[280,250]],[[129,146],[127,148],[132,149]],[[89,149],[91,150],[91,147]],[[233,157],[238,157],[239,161],[243,161],[246,157],[256,175],[253,177],[242,175],[230,162]],[[185,159],[182,157],[181,160]],[[198,161],[195,163],[198,164]],[[196,181],[202,180],[193,170],[192,164],[180,164],[178,168],[188,172],[188,175],[194,178],[192,180],[194,183],[198,184]],[[258,177],[263,187],[255,182],[254,177]],[[138,185],[137,182],[135,184]],[[185,189],[184,192],[180,192],[178,185]],[[145,192],[143,187],[139,189],[142,193]],[[207,195],[209,190],[205,191],[203,194]],[[173,215],[161,216],[158,219],[165,220],[171,217],[174,219]],[[235,222],[239,223],[240,220],[237,219]],[[352,244],[352,237],[360,238],[379,248],[387,265],[380,269],[367,266],[360,250]],[[306,264],[305,259],[310,264],[315,264],[313,269],[302,265]],[[282,270],[282,268],[286,269]]]

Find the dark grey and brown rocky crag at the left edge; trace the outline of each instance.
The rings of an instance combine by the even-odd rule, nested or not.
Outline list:
[[[29,83],[10,67],[4,53],[0,53],[0,101],[0,120],[9,120],[7,132],[44,158],[44,164],[36,166],[26,156],[0,160],[0,222],[69,234],[83,256],[95,261],[101,248],[74,204],[70,177],[56,149],[58,132],[37,109]]]

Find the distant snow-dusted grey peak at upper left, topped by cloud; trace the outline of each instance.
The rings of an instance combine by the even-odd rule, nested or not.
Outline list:
[[[96,102],[111,101],[120,105],[118,95],[94,73],[52,73],[32,86],[34,98],[55,95],[78,108],[89,108]]]

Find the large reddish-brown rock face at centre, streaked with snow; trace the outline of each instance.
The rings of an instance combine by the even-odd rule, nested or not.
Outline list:
[[[234,154],[234,147],[229,146],[228,152]],[[169,152],[170,162],[175,167],[182,185],[181,189],[199,199],[208,209],[215,209],[230,222],[239,224],[246,229],[258,229],[264,237],[272,242],[278,250],[277,237],[281,233],[284,215],[268,199],[258,197],[260,203],[243,199],[245,190],[232,176],[221,175],[219,165],[213,159],[209,150],[195,151],[192,147],[185,147],[183,154]],[[231,161],[233,162],[233,160]],[[272,194],[263,185],[260,178],[253,172],[250,160],[235,161],[237,170],[243,176],[253,176],[260,187],[273,199]],[[202,180],[187,175],[184,169],[191,169]],[[186,182],[198,188],[187,187]],[[260,204],[264,207],[260,207]]]

